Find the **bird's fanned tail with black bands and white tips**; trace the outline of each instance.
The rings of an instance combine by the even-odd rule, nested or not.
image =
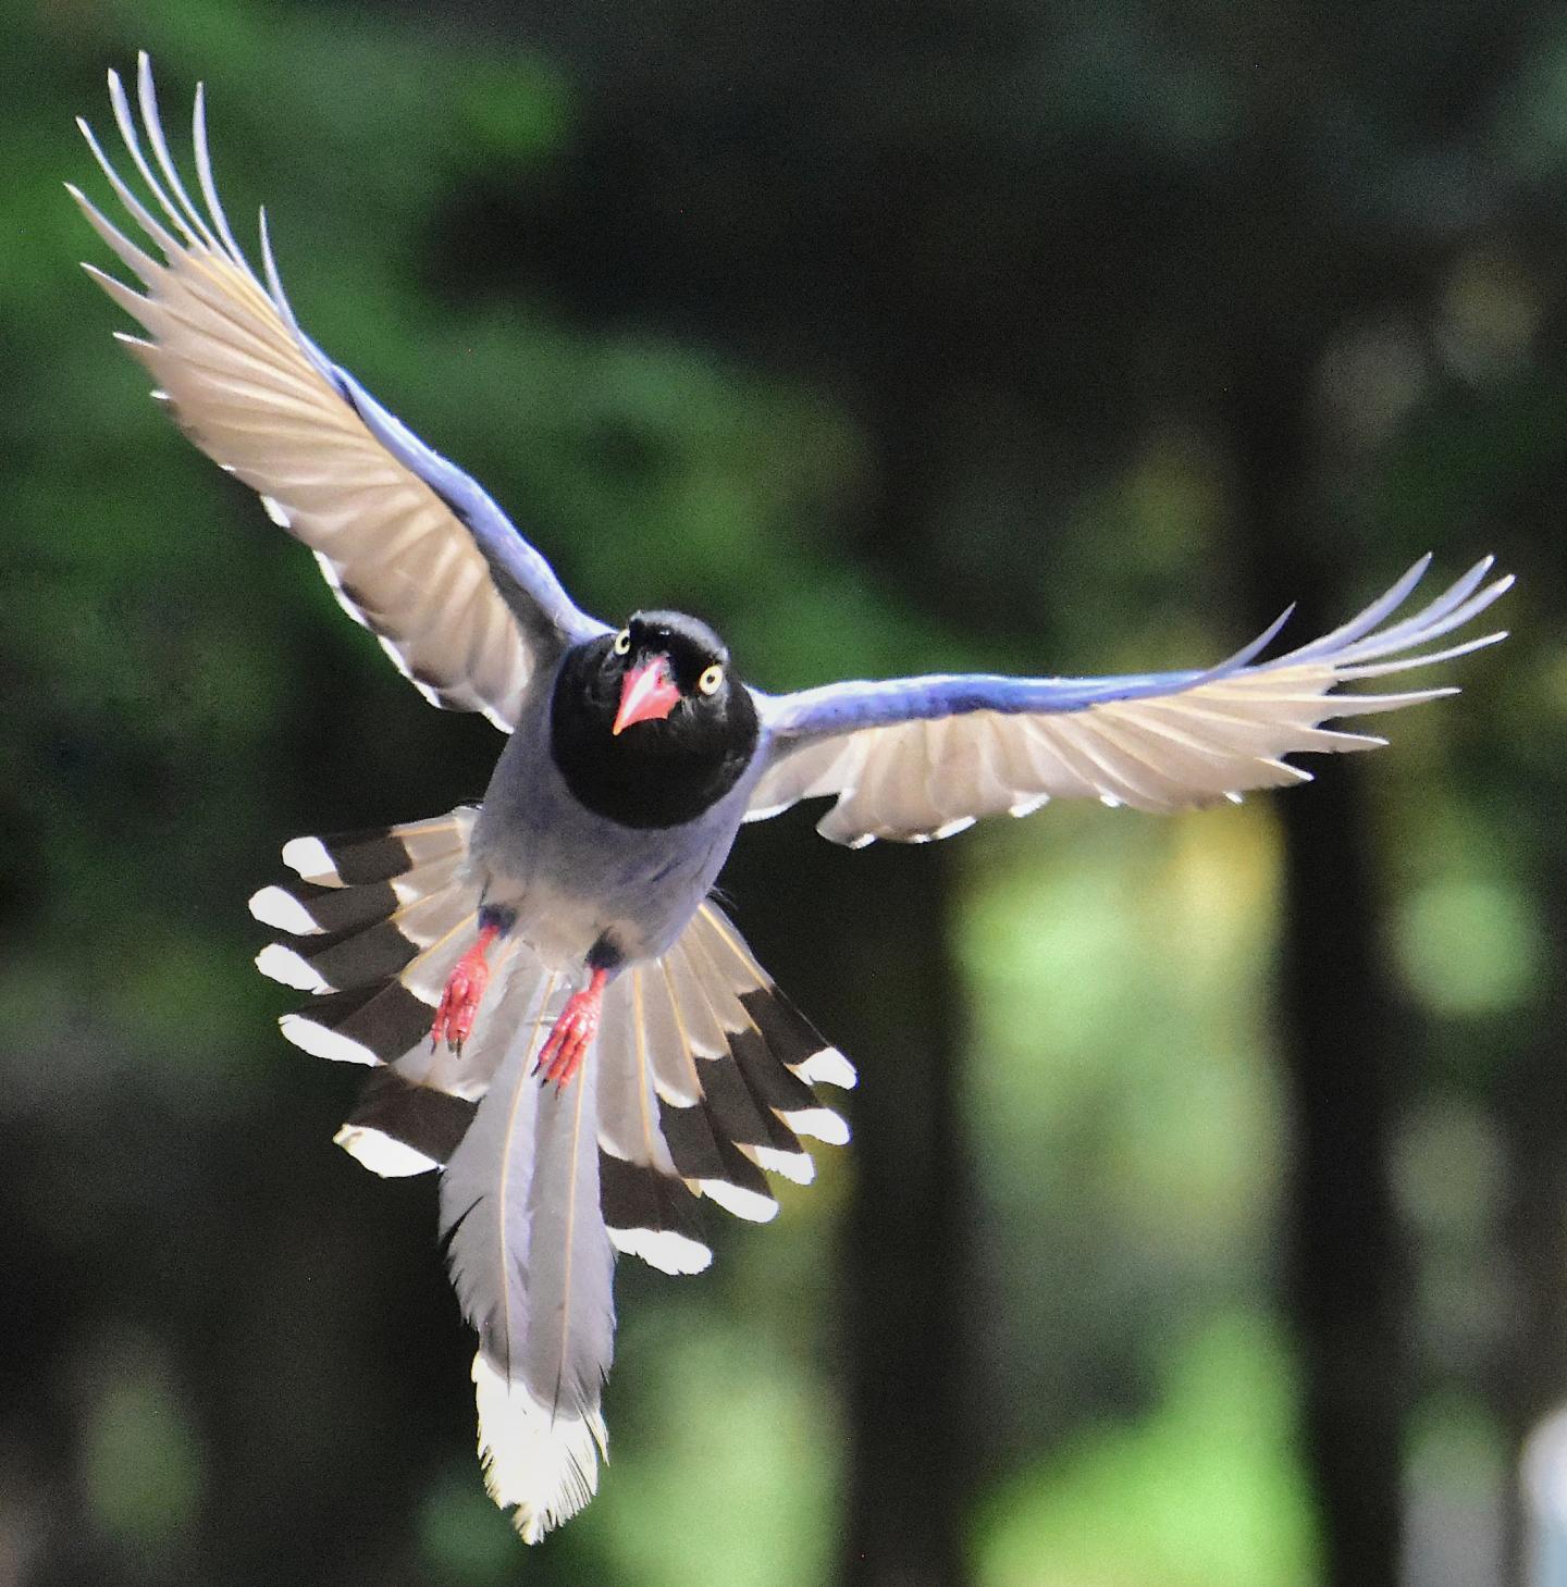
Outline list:
[[[711,903],[660,960],[610,982],[562,1092],[532,1068],[572,987],[522,943],[492,952],[462,1055],[433,1049],[435,1006],[478,928],[476,816],[297,838],[283,857],[300,881],[262,889],[251,911],[289,936],[257,966],[313,993],[284,1035],[372,1065],[338,1144],[379,1174],[443,1168],[452,1282],[479,1335],[479,1454],[533,1541],[597,1485],[614,1252],[697,1273],[711,1260],[703,1198],[770,1219],[768,1173],[813,1178],[800,1138],[848,1139],[813,1084],[853,1086],[854,1070]]]

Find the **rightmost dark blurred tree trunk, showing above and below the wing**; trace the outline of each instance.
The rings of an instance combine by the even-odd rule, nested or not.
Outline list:
[[[1249,598],[1269,617],[1299,600],[1302,633],[1321,632],[1343,605],[1332,573],[1335,540],[1305,508],[1310,389],[1321,351],[1311,335],[1262,335],[1234,389]],[[1315,768],[1316,787],[1278,800],[1284,903],[1276,1039],[1289,1097],[1284,1295],[1300,1357],[1323,1581],[1396,1587],[1411,1293],[1391,1147],[1405,1041],[1376,930],[1376,865],[1359,768],[1321,760]]]

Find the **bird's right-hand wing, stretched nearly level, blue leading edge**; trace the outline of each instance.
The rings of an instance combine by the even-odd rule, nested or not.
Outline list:
[[[851,847],[873,838],[945,838],[980,816],[1026,816],[1049,798],[1173,811],[1246,789],[1307,782],[1283,757],[1384,743],[1321,724],[1456,694],[1334,694],[1492,644],[1486,633],[1410,654],[1484,611],[1511,576],[1484,584],[1486,557],[1451,589],[1389,622],[1421,581],[1426,555],[1332,633],[1256,662],[1289,613],[1207,671],[1129,678],[900,678],[759,695],[770,763],[748,820],[802,798],[834,797],[818,830]],[[1483,586],[1483,587],[1481,587]]]

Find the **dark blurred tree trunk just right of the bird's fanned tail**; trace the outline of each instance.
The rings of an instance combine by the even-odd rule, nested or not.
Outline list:
[[[910,581],[938,451],[924,394],[938,351],[892,351],[875,371],[876,498],[861,546],[880,573]],[[935,381],[932,379],[935,376]],[[940,605],[929,584],[914,590]],[[935,597],[935,598],[932,598]],[[865,860],[872,860],[865,865]],[[848,871],[848,867],[841,867]],[[843,1581],[851,1587],[959,1587],[973,1439],[964,1393],[968,1179],[957,1100],[957,978],[945,844],[876,844],[848,884],[861,900],[849,976],[865,1033],[849,1208],[849,1504]]]

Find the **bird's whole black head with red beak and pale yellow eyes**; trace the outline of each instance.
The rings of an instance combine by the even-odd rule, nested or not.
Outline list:
[[[694,820],[756,752],[751,690],[722,640],[678,611],[640,611],[567,652],[549,747],[567,787],[622,827]]]

